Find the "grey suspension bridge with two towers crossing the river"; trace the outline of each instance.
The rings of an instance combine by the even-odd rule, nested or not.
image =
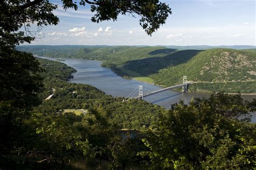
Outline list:
[[[183,83],[182,84],[180,84],[180,80],[181,79],[183,79]],[[133,90],[133,92],[131,92],[129,94],[129,96],[126,97],[126,100],[129,100],[131,98],[143,99],[143,98],[151,96],[153,94],[161,93],[161,92],[164,92],[164,91],[167,91],[167,90],[177,89],[179,87],[182,87],[182,92],[187,92],[187,86],[190,84],[190,82],[187,81],[187,76],[183,76],[183,78],[181,78],[181,79],[179,79],[177,81],[177,83],[174,84],[171,87],[166,87],[164,89],[156,90],[156,91],[149,92],[149,93],[146,93],[146,94],[143,93],[143,86],[139,85],[138,87],[136,87],[136,89]],[[134,97],[136,94],[138,94],[138,96]]]

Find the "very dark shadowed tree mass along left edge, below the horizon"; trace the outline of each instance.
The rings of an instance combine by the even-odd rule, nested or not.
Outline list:
[[[24,119],[40,103],[43,82],[37,60],[29,53],[0,51],[0,153],[17,152],[24,142]]]

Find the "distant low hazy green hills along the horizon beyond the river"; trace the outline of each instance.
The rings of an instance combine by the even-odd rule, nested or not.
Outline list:
[[[55,58],[84,58],[102,60],[112,64],[122,64],[129,60],[147,57],[161,57],[176,52],[160,46],[89,46],[89,45],[26,45],[18,50],[32,52],[38,56]]]

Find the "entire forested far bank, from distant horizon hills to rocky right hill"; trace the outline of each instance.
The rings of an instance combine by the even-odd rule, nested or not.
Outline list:
[[[162,46],[19,46],[18,50],[48,57],[102,60],[102,66],[119,76],[165,87],[186,75],[192,83],[188,89],[191,92],[256,92],[255,49],[180,51]]]

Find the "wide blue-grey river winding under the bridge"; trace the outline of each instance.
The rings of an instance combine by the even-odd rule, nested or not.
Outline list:
[[[45,59],[56,60],[57,58],[41,57]],[[101,67],[102,62],[97,60],[86,60],[86,59],[64,59],[59,61],[69,65],[77,70],[73,73],[73,79],[70,80],[72,83],[90,84],[95,86],[97,89],[104,91],[106,94],[111,94],[113,97],[127,97],[131,94],[138,85],[143,85],[143,93],[149,93],[162,89],[163,87],[154,86],[152,84],[143,83],[137,80],[125,79],[117,76],[111,69]],[[136,93],[138,96],[138,92]],[[135,95],[134,95],[135,97]],[[192,98],[208,98],[208,93],[181,93],[178,91],[164,91],[161,93],[154,94],[152,96],[144,98],[144,100],[150,103],[170,108],[171,104],[177,103],[180,100],[184,100],[187,104]],[[246,100],[253,100],[256,98],[254,95],[242,95],[242,98]],[[253,114],[252,122],[256,123],[256,113]]]

